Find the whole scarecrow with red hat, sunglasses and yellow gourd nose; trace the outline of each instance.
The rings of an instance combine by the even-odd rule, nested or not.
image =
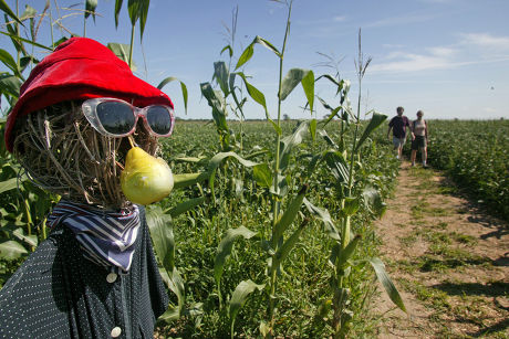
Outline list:
[[[6,145],[61,200],[0,290],[0,338],[153,337],[168,296],[141,204],[172,190],[153,156],[174,121],[169,97],[94,40],[72,38],[33,68]]]

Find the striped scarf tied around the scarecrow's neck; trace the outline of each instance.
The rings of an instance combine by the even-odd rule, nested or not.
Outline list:
[[[136,205],[114,212],[61,200],[46,222],[51,229],[59,223],[74,232],[84,257],[117,273],[129,271],[141,225]]]

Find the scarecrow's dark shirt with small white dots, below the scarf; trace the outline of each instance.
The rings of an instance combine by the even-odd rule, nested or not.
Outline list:
[[[128,274],[107,282],[106,268],[85,259],[74,233],[58,225],[0,290],[0,338],[153,338],[168,307],[141,208],[141,230]]]

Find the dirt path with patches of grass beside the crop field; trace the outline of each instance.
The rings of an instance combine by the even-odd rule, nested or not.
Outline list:
[[[376,224],[407,308],[377,300],[378,338],[509,338],[509,225],[440,172],[403,162]]]

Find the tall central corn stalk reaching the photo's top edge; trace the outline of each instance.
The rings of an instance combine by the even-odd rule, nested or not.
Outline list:
[[[290,251],[295,246],[301,236],[305,225],[309,223],[309,220],[304,218],[300,221],[300,225],[294,230],[290,235],[287,235],[287,231],[290,230],[290,225],[298,220],[299,211],[302,206],[305,193],[308,191],[309,184],[304,183],[301,189],[293,193],[294,195],[291,197],[291,177],[290,177],[290,167],[291,167],[291,153],[295,146],[302,142],[303,137],[307,135],[308,130],[311,130],[312,135],[314,135],[314,127],[315,121],[313,123],[304,123],[301,124],[292,135],[288,137],[282,137],[282,129],[281,129],[281,104],[288,97],[288,95],[299,85],[301,84],[305,96],[308,98],[308,104],[310,112],[313,112],[313,102],[314,102],[314,74],[312,71],[302,70],[302,68],[292,68],[288,72],[288,74],[283,78],[283,56],[285,51],[287,39],[290,34],[290,17],[291,17],[291,8],[292,2],[287,2],[288,6],[288,20],[287,20],[287,28],[284,40],[282,44],[281,51],[279,51],[272,43],[262,39],[260,36],[256,36],[251,44],[249,44],[242,54],[240,55],[239,60],[237,61],[236,70],[242,67],[253,55],[254,46],[260,44],[267,47],[269,51],[273,52],[277,57],[279,59],[279,89],[278,89],[278,112],[277,112],[277,119],[273,120],[270,116],[269,109],[266,104],[266,98],[263,93],[261,93],[258,88],[256,88],[249,81],[248,76],[243,72],[235,72],[229,75],[229,85],[227,87],[227,83],[225,81],[221,82],[221,76],[218,74],[229,74],[228,70],[225,68],[226,65],[221,64],[220,70],[225,70],[225,72],[216,72],[216,77],[219,80],[219,84],[221,85],[221,89],[224,93],[235,93],[233,84],[235,78],[239,77],[247,92],[248,95],[259,105],[262,106],[266,118],[272,126],[274,130],[274,159],[272,163],[262,162],[253,166],[252,177],[256,180],[257,184],[261,188],[264,188],[271,200],[272,204],[272,212],[267,220],[270,220],[270,233],[264,234],[261,232],[258,235],[254,232],[246,227],[239,227],[236,230],[228,230],[227,236],[221,241],[219,244],[217,255],[216,255],[216,263],[215,263],[215,278],[218,285],[218,289],[220,290],[220,278],[222,274],[222,267],[225,265],[226,258],[229,256],[232,243],[236,237],[242,236],[245,239],[257,239],[258,236],[261,237],[261,244],[266,253],[268,254],[268,265],[267,265],[267,283],[264,284],[256,284],[252,280],[243,280],[239,283],[237,288],[232,293],[232,297],[229,303],[229,321],[231,326],[231,336],[233,336],[233,324],[235,317],[238,312],[239,307],[245,303],[247,296],[254,292],[256,289],[267,289],[268,293],[268,312],[267,312],[267,321],[262,321],[260,324],[260,331],[266,337],[271,337],[273,333],[274,327],[274,319],[276,319],[276,309],[277,309],[277,280],[278,274],[281,271],[281,265]],[[219,64],[216,64],[219,65]],[[216,66],[216,71],[217,71]],[[225,77],[222,77],[225,80]],[[225,89],[227,88],[227,89]],[[209,104],[212,102],[210,99],[211,96],[206,96],[209,99]],[[217,98],[217,95],[216,95]],[[216,103],[220,103],[221,100],[216,100]],[[236,99],[236,103],[238,100]],[[212,105],[211,105],[212,106]],[[224,107],[225,105],[222,105]],[[217,106],[212,106],[212,115],[217,116],[217,112],[219,108]],[[282,204],[287,201],[287,208],[283,211]],[[219,293],[220,305],[221,303],[221,295]]]

